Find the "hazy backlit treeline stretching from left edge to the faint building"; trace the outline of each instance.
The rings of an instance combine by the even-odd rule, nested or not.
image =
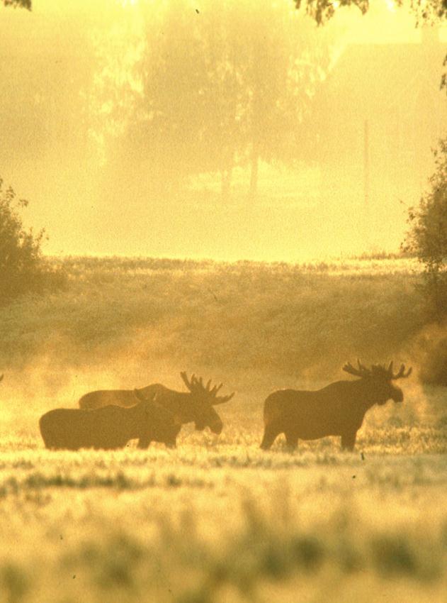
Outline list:
[[[2,14],[2,170],[17,153],[79,180],[88,170],[112,196],[137,183],[153,197],[213,172],[227,198],[236,167],[254,196],[261,160],[305,159],[335,25],[317,28],[288,0],[77,6]]]

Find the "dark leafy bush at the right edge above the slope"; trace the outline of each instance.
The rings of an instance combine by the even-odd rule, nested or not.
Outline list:
[[[424,265],[424,294],[429,312],[440,321],[447,313],[447,138],[434,152],[436,170],[419,207],[409,209],[404,249]]]

